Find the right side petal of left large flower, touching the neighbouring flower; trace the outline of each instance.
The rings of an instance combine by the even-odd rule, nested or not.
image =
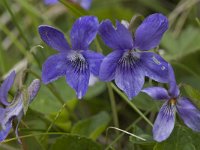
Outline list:
[[[90,72],[95,76],[99,76],[99,69],[104,56],[100,53],[93,52],[90,50],[84,51],[83,56],[89,63]]]

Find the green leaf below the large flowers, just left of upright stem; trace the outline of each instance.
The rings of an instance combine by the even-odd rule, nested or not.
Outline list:
[[[96,139],[107,127],[110,116],[106,112],[79,121],[72,128],[72,133]]]

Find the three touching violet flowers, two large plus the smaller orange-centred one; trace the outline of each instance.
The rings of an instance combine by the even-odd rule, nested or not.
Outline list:
[[[77,19],[71,29],[70,46],[60,30],[41,25],[41,39],[59,52],[43,64],[42,81],[48,84],[65,76],[66,82],[81,99],[87,92],[90,76],[95,75],[105,82],[114,80],[130,100],[141,92],[145,77],[168,83],[168,91],[161,87],[142,90],[155,99],[167,100],[155,121],[154,139],[160,142],[170,135],[176,110],[188,127],[200,131],[199,110],[189,99],[179,96],[172,67],[158,54],[148,52],[159,45],[167,29],[168,19],[160,13],[144,19],[134,36],[118,21],[114,27],[110,20],[99,24],[95,16],[84,16]],[[97,33],[112,49],[105,57],[89,48]]]

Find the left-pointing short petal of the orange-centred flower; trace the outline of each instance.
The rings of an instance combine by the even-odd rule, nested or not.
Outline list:
[[[170,97],[168,91],[162,87],[148,87],[142,90],[155,100],[168,100]]]

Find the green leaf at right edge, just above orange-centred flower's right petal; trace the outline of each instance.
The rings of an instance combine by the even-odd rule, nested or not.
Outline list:
[[[198,107],[200,108],[200,91],[191,87],[188,84],[184,84],[183,88],[190,98],[190,100]]]

